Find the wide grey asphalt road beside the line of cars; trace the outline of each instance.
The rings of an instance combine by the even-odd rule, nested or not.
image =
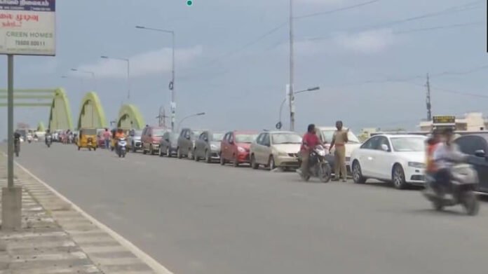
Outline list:
[[[419,189],[62,144],[18,162],[175,273],[488,272],[486,201],[468,217]]]

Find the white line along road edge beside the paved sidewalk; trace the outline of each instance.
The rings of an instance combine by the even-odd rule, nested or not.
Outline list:
[[[144,263],[146,263],[150,268],[152,268],[156,273],[158,274],[173,274],[168,268],[165,268],[161,263],[158,263],[155,259],[153,259],[151,256],[143,252],[141,249],[136,247],[132,242],[127,240],[126,238],[123,238],[121,235],[116,233],[115,231],[111,230],[108,226],[105,226],[102,224],[102,222],[98,221],[97,219],[93,218],[90,216],[90,214],[84,212],[81,210],[80,207],[72,203],[68,198],[63,196],[61,193],[57,192],[55,189],[53,189],[51,186],[49,186],[46,182],[42,181],[39,179],[39,177],[36,177],[36,175],[32,174],[27,168],[23,167],[19,163],[15,162],[15,165],[20,167],[25,173],[29,174],[32,178],[36,179],[39,181],[40,184],[43,184],[43,186],[46,186],[47,189],[50,191],[53,191],[53,193],[59,197],[61,200],[64,200],[66,203],[71,205],[72,209],[78,211],[80,214],[82,214],[86,219],[91,221],[95,226],[98,226],[98,228],[102,229],[102,231],[105,231],[109,235],[111,235],[112,238],[114,238],[118,243],[120,243],[123,247],[126,247],[130,252],[133,252],[137,258],[141,259]]]

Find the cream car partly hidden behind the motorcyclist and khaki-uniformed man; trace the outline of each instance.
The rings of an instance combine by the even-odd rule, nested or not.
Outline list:
[[[334,136],[334,132],[337,128],[334,127],[317,127],[317,134],[320,137],[320,140],[325,143],[325,149],[329,149],[330,143],[332,142],[332,137]],[[347,130],[347,128],[344,128]],[[354,135],[352,131],[349,131],[347,134],[348,142],[345,144],[346,147],[346,168],[348,173],[351,173],[351,153],[355,149],[358,149],[361,146],[361,142],[359,141],[358,137]],[[331,153],[325,156],[327,162],[329,162],[330,166],[332,167],[332,171],[334,171],[334,148],[332,148]]]

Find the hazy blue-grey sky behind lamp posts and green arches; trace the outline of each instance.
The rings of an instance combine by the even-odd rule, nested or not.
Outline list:
[[[156,123],[158,108],[169,109],[171,39],[135,25],[174,29],[177,116],[205,111],[206,116],[185,122],[198,128],[273,128],[288,82],[283,25],[288,1],[195,0],[191,7],[185,2],[57,1],[57,56],[16,57],[15,87],[66,88],[74,117],[86,91],[96,89],[107,116],[115,118],[126,100],[126,65],[100,55],[126,57],[132,67],[131,102],[147,123]],[[295,20],[295,89],[321,88],[297,96],[297,130],[337,119],[355,131],[414,128],[426,116],[428,72],[434,114],[488,114],[486,1],[294,2],[296,16],[372,2]],[[0,83],[6,87],[6,57],[0,64]],[[71,73],[72,68],[95,71],[96,81]],[[0,116],[4,137],[5,109]],[[15,122],[36,125],[47,119],[48,109],[15,111]]]

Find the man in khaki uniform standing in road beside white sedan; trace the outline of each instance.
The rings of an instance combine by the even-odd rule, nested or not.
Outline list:
[[[332,142],[330,143],[329,152],[332,147],[335,146],[334,151],[334,179],[333,181],[339,181],[339,177],[342,177],[342,181],[347,179],[346,168],[346,143],[348,142],[349,130],[343,129],[342,121],[336,122],[337,130],[334,132]]]

